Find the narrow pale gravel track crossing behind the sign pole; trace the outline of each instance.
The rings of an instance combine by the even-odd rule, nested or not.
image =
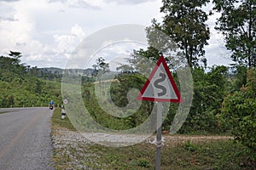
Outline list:
[[[85,137],[86,138],[85,138]],[[201,135],[162,135],[164,144],[169,146],[183,144],[188,141],[192,143],[206,143],[217,140],[227,140],[234,139],[231,136],[201,136]],[[90,138],[90,140],[89,140]],[[144,139],[142,141],[142,139]],[[53,143],[55,148],[64,147],[65,144],[104,144],[106,143],[120,143],[120,145],[131,145],[136,144],[137,141],[142,141],[143,143],[154,143],[155,135],[147,136],[144,135],[125,135],[125,134],[113,134],[113,133],[78,133],[76,131],[70,131],[67,128],[57,128],[55,133],[53,133]]]

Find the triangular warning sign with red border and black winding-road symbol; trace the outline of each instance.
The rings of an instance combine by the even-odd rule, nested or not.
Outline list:
[[[172,74],[163,56],[157,61],[154,70],[144,84],[137,100],[158,102],[182,102]]]

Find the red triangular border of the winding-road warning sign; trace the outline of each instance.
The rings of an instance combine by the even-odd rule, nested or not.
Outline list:
[[[154,77],[155,72],[157,71],[158,67],[162,64],[166,70],[166,74],[172,84],[172,88],[177,96],[177,99],[159,99],[159,98],[148,98],[148,97],[143,97],[144,92],[148,88],[149,82],[152,80],[152,77]],[[160,56],[160,59],[158,59],[156,65],[154,66],[154,70],[151,72],[150,76],[147,79],[147,82],[144,84],[140,94],[137,96],[137,100],[148,100],[148,101],[157,101],[157,102],[172,102],[172,103],[181,103],[183,99],[181,98],[177,86],[173,80],[172,74],[169,71],[169,68],[166,64],[166,60],[163,55]]]

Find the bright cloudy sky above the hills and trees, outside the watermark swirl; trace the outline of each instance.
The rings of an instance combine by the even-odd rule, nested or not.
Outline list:
[[[162,19],[161,6],[161,0],[0,0],[0,55],[19,51],[27,65],[65,68],[84,38],[108,26],[150,26],[152,19]],[[207,21],[207,63],[229,65],[230,52],[214,30],[216,17]]]

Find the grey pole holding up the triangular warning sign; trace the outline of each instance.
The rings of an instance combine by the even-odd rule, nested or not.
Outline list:
[[[158,102],[157,104],[157,115],[156,115],[156,128],[157,128],[157,136],[156,136],[156,159],[155,159],[155,170],[160,170],[160,162],[161,162],[161,146],[162,146],[162,105],[163,103]]]

